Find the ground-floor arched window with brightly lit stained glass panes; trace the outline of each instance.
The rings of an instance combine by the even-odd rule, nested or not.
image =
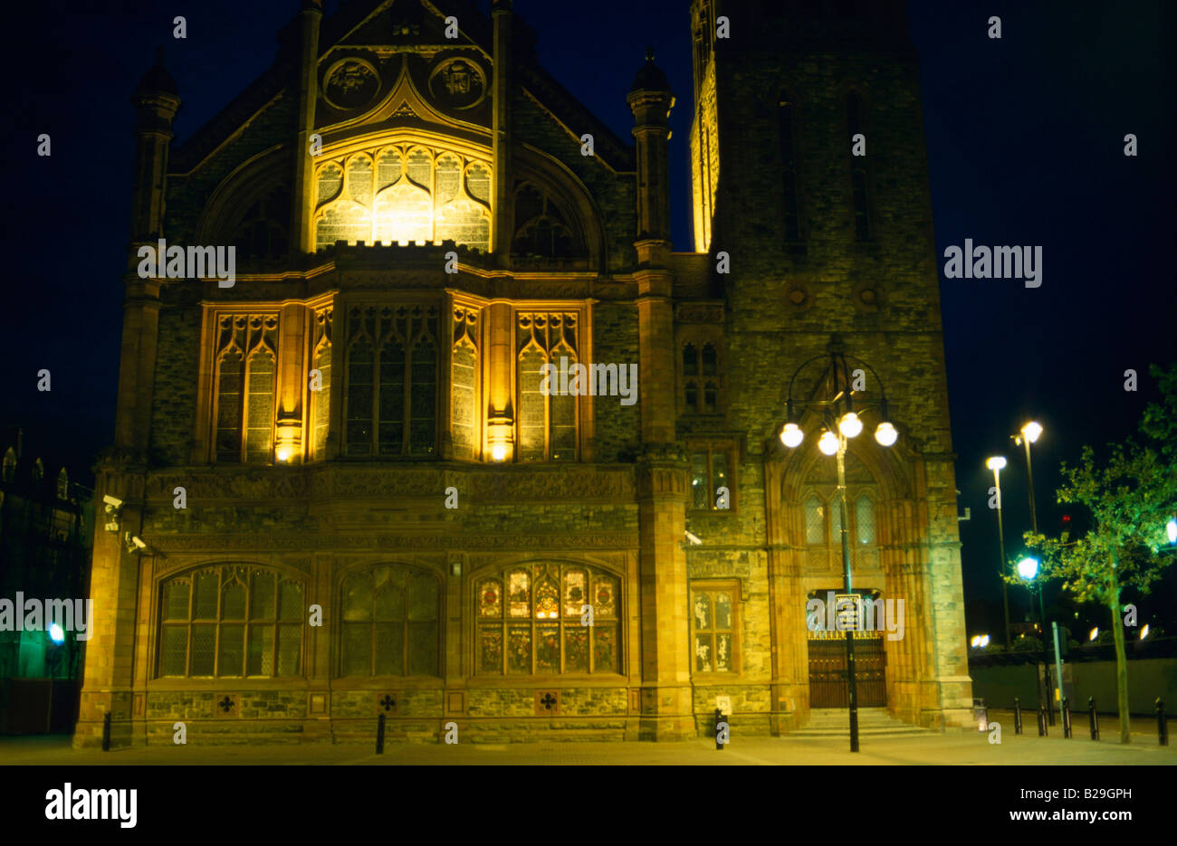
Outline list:
[[[477,672],[621,672],[619,586],[604,571],[564,564],[514,567],[478,581]]]

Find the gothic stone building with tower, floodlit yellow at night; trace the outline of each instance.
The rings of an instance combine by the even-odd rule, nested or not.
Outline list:
[[[684,0],[690,198],[652,56],[618,138],[510,1],[306,0],[271,69],[178,146],[157,65],[75,742],[106,713],[117,745],[178,720],[189,741],[372,742],[379,713],[419,741],[451,721],[663,740],[711,732],[720,697],[737,737],[804,726],[844,704],[840,642],[805,619],[842,586],[843,527],[813,420],[796,449],[779,434],[791,374],[831,345],[873,367],[899,431],[847,455],[856,587],[906,612],[902,639],[860,633],[862,704],[965,725],[903,6]],[[159,239],[235,246],[234,284],[144,278]],[[633,365],[636,401],[620,379],[543,389],[544,365],[581,362]]]

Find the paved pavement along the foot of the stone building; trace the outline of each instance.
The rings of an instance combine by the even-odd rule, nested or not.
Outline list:
[[[991,719],[995,714],[991,714]],[[1083,731],[1080,732],[1080,727]],[[0,738],[0,762],[9,765],[826,765],[826,764],[966,764],[966,765],[1177,765],[1177,746],[1158,746],[1156,734],[1132,735],[1121,745],[1115,721],[1103,724],[1105,739],[1093,741],[1086,726],[1075,737],[1013,734],[1013,720],[1002,722],[1002,742],[983,732],[929,733],[925,737],[864,738],[858,753],[849,738],[800,740],[732,738],[723,752],[714,741],[684,742],[536,742],[536,744],[390,744],[377,755],[364,746],[152,746],[137,750],[74,751],[69,738],[41,735]],[[1133,726],[1135,728],[1135,726]]]

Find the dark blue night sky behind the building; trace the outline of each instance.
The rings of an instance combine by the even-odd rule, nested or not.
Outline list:
[[[487,5],[479,2],[484,12]],[[22,426],[27,447],[47,464],[85,472],[113,438],[129,96],[155,46],[165,46],[184,99],[177,120],[184,140],[270,66],[277,32],[298,6],[45,0],[6,8],[14,55],[4,94],[0,424]],[[327,13],[337,6],[327,0]],[[540,62],[624,139],[632,127],[625,96],[646,45],[654,46],[678,96],[671,200],[679,249],[691,248],[687,6],[516,0],[539,32]],[[1044,251],[1036,289],[942,277],[959,505],[972,509],[960,533],[969,601],[999,595],[985,457],[1004,452],[1010,460],[1003,489],[1013,546],[1029,528],[1029,505],[1024,459],[1009,435],[1031,415],[1045,426],[1035,453],[1039,522],[1056,528],[1059,460],[1133,431],[1153,395],[1148,366],[1177,359],[1172,7],[1165,0],[909,2],[938,252],[965,238]],[[187,40],[172,39],[177,14],[187,18]],[[1000,40],[986,38],[990,15],[1002,18]],[[41,132],[52,135],[52,158],[35,155]],[[1137,158],[1123,155],[1130,132],[1139,139]],[[35,389],[41,368],[53,374],[51,393]],[[1123,389],[1129,368],[1139,373],[1137,393]],[[1177,597],[1173,569],[1162,589]]]

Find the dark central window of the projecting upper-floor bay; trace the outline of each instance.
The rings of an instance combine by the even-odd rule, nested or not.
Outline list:
[[[355,306],[347,315],[345,454],[437,452],[438,308]]]

